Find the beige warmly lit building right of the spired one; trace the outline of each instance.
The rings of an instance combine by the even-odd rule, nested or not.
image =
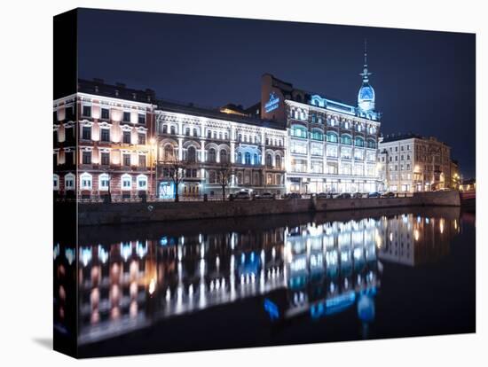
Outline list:
[[[419,192],[453,188],[451,148],[435,137],[387,136],[380,141],[378,155],[384,190]]]

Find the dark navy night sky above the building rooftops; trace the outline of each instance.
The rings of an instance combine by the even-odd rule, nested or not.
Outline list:
[[[82,10],[79,76],[217,107],[259,101],[261,75],[357,105],[364,40],[382,134],[435,136],[476,175],[475,35]]]

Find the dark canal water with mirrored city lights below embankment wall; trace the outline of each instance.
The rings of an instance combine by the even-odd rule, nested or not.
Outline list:
[[[81,356],[475,332],[475,219],[413,207],[82,227],[77,252],[54,246],[55,332],[72,332],[70,292]]]

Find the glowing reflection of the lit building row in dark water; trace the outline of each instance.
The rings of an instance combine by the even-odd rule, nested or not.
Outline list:
[[[272,320],[355,307],[366,331],[374,321],[382,262],[435,262],[449,253],[459,230],[459,216],[407,214],[80,246],[79,342],[256,295]],[[54,258],[55,277],[62,276],[75,252],[60,254],[57,245]]]

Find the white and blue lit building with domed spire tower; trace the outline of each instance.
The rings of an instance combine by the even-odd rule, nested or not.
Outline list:
[[[358,105],[262,77],[261,117],[287,128],[287,192],[368,192],[378,187],[381,113],[369,84],[366,51]]]

